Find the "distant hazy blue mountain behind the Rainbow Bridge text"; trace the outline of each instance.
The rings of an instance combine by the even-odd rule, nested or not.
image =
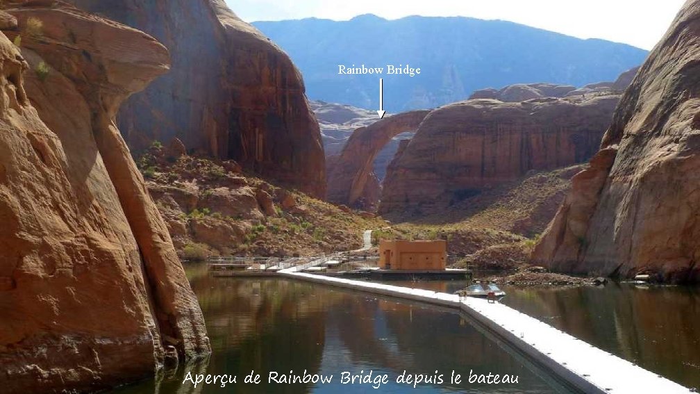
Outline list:
[[[513,83],[583,86],[615,81],[647,51],[599,39],[582,40],[500,20],[360,15],[253,25],[292,57],[314,100],[379,107],[379,77],[339,76],[338,65],[410,64],[419,76],[384,75],[384,109],[437,107],[474,90]]]

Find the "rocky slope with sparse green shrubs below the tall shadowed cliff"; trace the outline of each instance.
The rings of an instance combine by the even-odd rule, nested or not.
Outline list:
[[[142,173],[148,174],[149,187],[167,186],[160,189],[158,196],[167,199],[158,208],[162,212],[172,233],[176,248],[183,253],[183,248],[195,243],[208,244],[202,240],[202,233],[195,236],[195,222],[206,222],[209,229],[220,229],[221,234],[216,245],[221,245],[224,237],[230,237],[230,245],[218,249],[207,245],[214,254],[262,254],[309,255],[336,250],[353,250],[362,245],[362,233],[365,229],[378,229],[386,226],[381,219],[367,219],[353,213],[342,212],[335,205],[311,198],[299,191],[281,189],[250,174],[244,175],[236,170],[231,162],[214,161],[207,158],[180,156],[174,163],[166,161],[166,149],[159,149],[155,144],[141,151],[135,161]],[[144,175],[146,177],[146,175]],[[177,182],[173,182],[177,179]],[[176,188],[182,187],[183,194],[178,196]],[[202,208],[207,197],[217,189],[231,189],[237,193],[250,193],[244,188],[262,189],[274,199],[274,214],[263,215],[260,212],[236,212],[223,215],[221,212]],[[240,189],[240,190],[237,190]],[[192,193],[195,193],[194,195]],[[294,209],[281,208],[281,196],[291,194],[296,201]],[[195,203],[189,211],[183,212],[184,201]],[[190,200],[193,198],[193,200]],[[188,202],[189,204],[189,202]],[[258,215],[263,217],[258,218]],[[255,219],[253,219],[255,217]],[[221,223],[225,222],[225,223]],[[214,230],[216,233],[218,230]],[[213,233],[213,234],[214,234]],[[196,242],[195,242],[196,239]],[[236,243],[234,240],[239,239]]]

